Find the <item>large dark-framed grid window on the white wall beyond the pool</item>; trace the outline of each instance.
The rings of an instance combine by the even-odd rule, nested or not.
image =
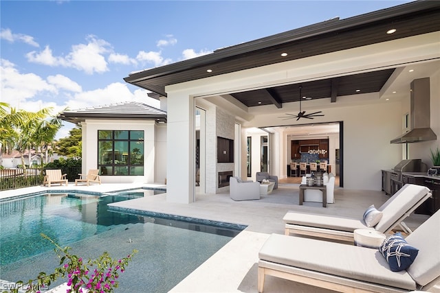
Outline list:
[[[103,176],[144,175],[144,131],[98,130],[98,168]]]

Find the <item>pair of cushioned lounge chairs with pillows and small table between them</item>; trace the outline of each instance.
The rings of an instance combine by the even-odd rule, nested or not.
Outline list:
[[[362,218],[287,212],[285,235],[270,235],[259,252],[259,292],[266,275],[338,292],[430,290],[440,282],[440,211],[414,232],[403,222],[430,196],[428,188],[407,184]],[[397,226],[406,238],[392,235]]]

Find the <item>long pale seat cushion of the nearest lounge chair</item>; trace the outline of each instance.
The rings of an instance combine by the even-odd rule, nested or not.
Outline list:
[[[365,282],[416,290],[406,271],[391,272],[378,250],[316,239],[272,234],[259,258],[287,266]]]

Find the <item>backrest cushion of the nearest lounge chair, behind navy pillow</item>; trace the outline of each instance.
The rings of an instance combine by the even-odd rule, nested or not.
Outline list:
[[[431,215],[406,237],[408,244],[419,248],[419,254],[408,268],[408,273],[420,285],[440,276],[440,210]]]

